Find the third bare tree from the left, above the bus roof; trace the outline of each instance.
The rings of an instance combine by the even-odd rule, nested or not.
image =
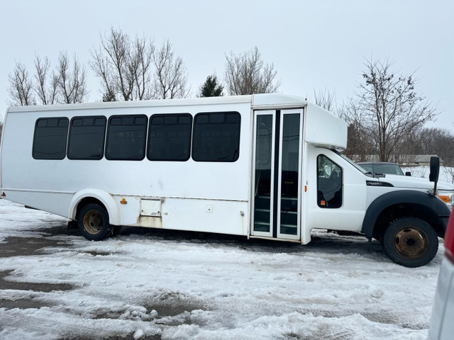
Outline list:
[[[79,64],[76,55],[72,65],[67,53],[60,53],[57,65],[58,91],[63,103],[82,103],[87,97],[85,68]]]

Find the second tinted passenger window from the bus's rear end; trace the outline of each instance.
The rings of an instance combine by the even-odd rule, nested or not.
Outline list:
[[[104,155],[106,117],[74,117],[71,120],[69,159],[101,159]]]

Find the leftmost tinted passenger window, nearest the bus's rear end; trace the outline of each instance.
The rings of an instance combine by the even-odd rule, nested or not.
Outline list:
[[[34,159],[64,159],[68,135],[68,118],[39,118],[33,135]]]

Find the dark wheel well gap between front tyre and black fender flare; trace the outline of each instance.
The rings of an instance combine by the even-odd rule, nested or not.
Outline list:
[[[375,239],[381,239],[389,223],[401,217],[416,217],[424,220],[428,223],[428,225],[433,227],[438,237],[444,237],[445,232],[443,229],[443,223],[438,215],[436,215],[433,210],[427,208],[426,205],[413,203],[399,203],[390,205],[384,209],[375,221],[372,237]]]

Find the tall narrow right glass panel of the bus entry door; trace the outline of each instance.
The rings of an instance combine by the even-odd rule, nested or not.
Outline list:
[[[282,115],[280,233],[298,232],[299,113]]]

